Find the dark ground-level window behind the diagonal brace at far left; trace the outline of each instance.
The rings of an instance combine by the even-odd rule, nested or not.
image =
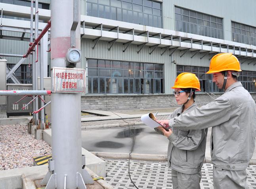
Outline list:
[[[7,66],[12,69],[15,64],[7,64]],[[14,72],[15,76],[20,80],[23,84],[32,84],[32,65],[22,64],[19,68]],[[7,83],[13,83],[13,81],[9,78]]]

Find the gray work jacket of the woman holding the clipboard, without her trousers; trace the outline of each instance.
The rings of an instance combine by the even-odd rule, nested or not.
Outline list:
[[[170,117],[174,118],[190,112],[196,107],[197,104],[194,102],[193,105],[182,113],[182,106],[176,109]],[[155,130],[163,134],[157,128],[155,128]],[[181,173],[199,173],[204,161],[207,130],[208,129],[180,130],[172,128],[173,133],[168,137],[168,166]]]

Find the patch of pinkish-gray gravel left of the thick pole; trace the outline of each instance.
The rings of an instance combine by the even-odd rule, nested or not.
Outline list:
[[[27,125],[0,125],[0,170],[33,166],[33,158],[50,155],[52,147],[27,132]]]

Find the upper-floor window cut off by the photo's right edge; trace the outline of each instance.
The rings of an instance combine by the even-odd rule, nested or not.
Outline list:
[[[256,45],[256,27],[231,22],[232,40],[248,45]]]

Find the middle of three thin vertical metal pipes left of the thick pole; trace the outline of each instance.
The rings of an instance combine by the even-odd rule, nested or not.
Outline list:
[[[35,38],[38,37],[38,0],[36,0],[36,9],[35,9]],[[38,61],[38,45],[35,47],[35,59]],[[35,70],[35,90],[38,90],[38,62],[34,62]],[[35,109],[38,110],[38,98],[35,100]],[[36,114],[36,125],[38,125],[38,114]]]

